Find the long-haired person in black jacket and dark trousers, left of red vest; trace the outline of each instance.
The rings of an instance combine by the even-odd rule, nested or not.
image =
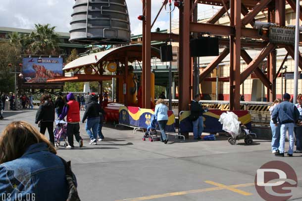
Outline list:
[[[40,107],[36,114],[35,123],[40,124],[40,133],[43,135],[48,130],[50,135],[50,142],[54,145],[54,135],[53,135],[53,121],[54,121],[54,105],[50,98],[50,95],[45,94],[41,98]]]

